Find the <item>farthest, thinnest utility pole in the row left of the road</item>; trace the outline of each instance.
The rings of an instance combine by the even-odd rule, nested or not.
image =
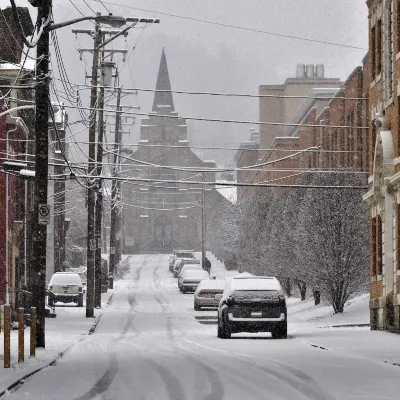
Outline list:
[[[121,147],[121,134],[120,134],[120,108],[121,108],[121,88],[118,88],[117,92],[117,112],[115,115],[115,138],[114,138],[114,167],[112,176],[115,178],[118,176],[118,164],[119,164],[119,151]],[[117,179],[113,179],[111,183],[111,225],[110,225],[110,265],[109,265],[109,288],[114,288],[114,270],[115,270],[115,259],[116,259],[116,236],[117,236],[117,219],[119,204],[117,201],[118,195],[118,183]]]

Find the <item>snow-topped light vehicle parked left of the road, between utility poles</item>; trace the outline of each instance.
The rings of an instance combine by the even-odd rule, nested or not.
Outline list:
[[[48,287],[48,304],[54,307],[56,302],[76,303],[78,307],[83,307],[83,285],[78,274],[56,272],[51,277]]]

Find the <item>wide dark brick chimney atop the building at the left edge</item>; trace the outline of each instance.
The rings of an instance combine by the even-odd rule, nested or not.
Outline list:
[[[27,7],[17,7],[18,16],[23,27],[25,37],[33,32],[33,23]],[[22,57],[24,42],[22,41],[19,26],[15,23],[11,7],[0,9],[0,62],[19,64]]]

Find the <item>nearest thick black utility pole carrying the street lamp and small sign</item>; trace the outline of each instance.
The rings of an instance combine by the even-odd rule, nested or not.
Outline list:
[[[52,0],[42,0],[38,6],[37,27],[47,21]],[[36,307],[36,345],[45,347],[45,297],[46,297],[46,240],[47,224],[39,221],[39,212],[47,205],[47,177],[49,151],[49,26],[43,29],[36,47],[36,91],[35,91],[35,206],[33,234],[32,305]]]

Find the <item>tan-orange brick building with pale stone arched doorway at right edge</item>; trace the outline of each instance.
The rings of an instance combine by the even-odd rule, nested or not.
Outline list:
[[[371,327],[400,333],[400,1],[367,6]]]

